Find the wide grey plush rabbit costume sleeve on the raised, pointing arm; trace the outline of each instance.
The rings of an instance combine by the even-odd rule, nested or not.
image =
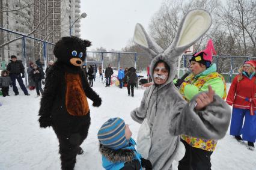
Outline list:
[[[170,133],[203,139],[223,138],[230,124],[230,106],[221,97],[215,95],[213,102],[203,111],[196,111],[195,99],[197,96],[193,97],[184,108],[177,107],[176,114],[171,118]]]

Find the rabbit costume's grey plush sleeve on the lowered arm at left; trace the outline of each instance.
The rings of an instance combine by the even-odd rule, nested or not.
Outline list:
[[[139,108],[136,108],[132,112],[130,112],[130,116],[132,117],[132,119],[134,121],[138,122],[139,124],[141,124],[142,121],[145,118],[145,112],[146,112],[146,110],[145,110],[145,100],[148,96],[150,88],[148,88],[147,90],[144,91],[143,98],[141,100],[141,105],[139,106]]]

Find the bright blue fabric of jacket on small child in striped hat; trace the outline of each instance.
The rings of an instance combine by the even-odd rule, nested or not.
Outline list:
[[[125,148],[121,148],[121,150],[133,150],[135,153],[133,156],[133,160],[137,159],[139,160],[139,163],[141,163],[141,154],[139,154],[135,150],[135,145],[136,145],[135,141],[132,138],[130,138],[129,146]],[[124,167],[124,163],[126,162],[111,162],[110,160],[106,159],[105,156],[102,156],[102,166],[107,170],[119,170]]]

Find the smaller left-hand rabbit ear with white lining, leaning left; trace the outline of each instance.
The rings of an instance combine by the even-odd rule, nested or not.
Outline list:
[[[139,23],[135,26],[133,41],[142,49],[147,50],[153,58],[159,53],[163,53],[163,49],[150,39],[143,26]]]

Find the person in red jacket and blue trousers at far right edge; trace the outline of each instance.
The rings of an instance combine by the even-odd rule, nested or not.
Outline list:
[[[230,135],[239,142],[248,141],[254,150],[256,139],[256,61],[246,61],[234,77],[226,102],[233,105]],[[245,122],[243,123],[243,118]],[[240,135],[243,135],[241,138]]]

